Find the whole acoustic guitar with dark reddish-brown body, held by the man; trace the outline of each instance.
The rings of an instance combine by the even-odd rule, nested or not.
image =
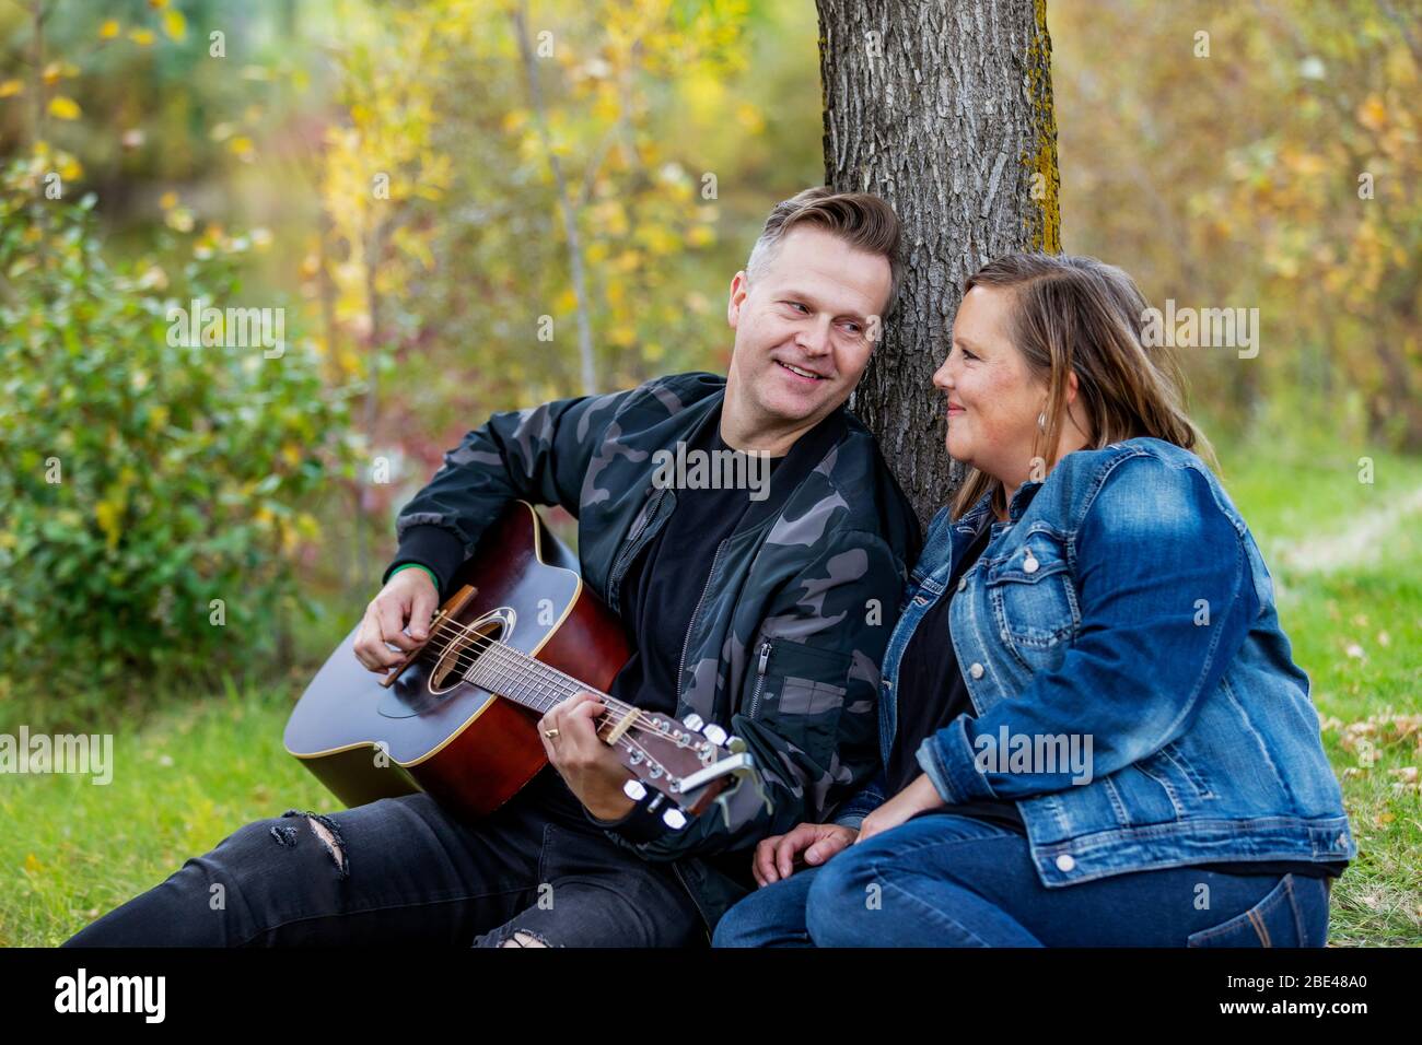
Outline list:
[[[603,688],[626,664],[621,624],[532,505],[513,502],[455,576],[429,638],[388,675],[356,660],[356,628],[301,694],[286,749],[350,806],[429,793],[474,820],[508,802],[547,756],[539,717],[586,690],[599,736],[633,773],[629,798],[675,829],[735,781],[761,788],[745,742],[690,715],[643,711]]]

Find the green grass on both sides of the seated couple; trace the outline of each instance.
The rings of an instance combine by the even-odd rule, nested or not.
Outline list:
[[[1226,485],[1258,540],[1361,853],[1334,889],[1335,945],[1422,941],[1422,515],[1335,570],[1287,569],[1300,542],[1345,533],[1422,488],[1422,461],[1375,455],[1375,482],[1328,449],[1221,448]],[[1327,566],[1327,563],[1322,563]],[[301,672],[182,694],[114,734],[114,781],[0,778],[0,944],[57,944],[240,825],[334,800],[282,748]],[[13,732],[16,725],[0,725]],[[31,724],[31,728],[36,728]],[[1371,756],[1369,756],[1371,752]]]

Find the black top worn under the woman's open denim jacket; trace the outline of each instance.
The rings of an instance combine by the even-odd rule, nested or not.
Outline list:
[[[990,520],[991,522],[991,520]],[[897,795],[913,783],[923,768],[919,765],[919,746],[923,741],[948,725],[961,714],[974,715],[973,700],[968,697],[957,653],[948,637],[948,607],[957,594],[958,579],[973,569],[973,564],[987,547],[991,526],[984,525],[968,545],[963,557],[954,563],[948,587],[933,604],[913,630],[909,647],[899,664],[899,727],[893,748],[889,752],[889,795]],[[953,806],[929,809],[919,816],[951,813],[971,816],[978,820],[1027,833],[1017,803],[1000,799],[983,799]],[[1347,860],[1315,863],[1311,860],[1254,862],[1193,864],[1200,870],[1223,872],[1226,874],[1303,874],[1307,877],[1338,877]]]

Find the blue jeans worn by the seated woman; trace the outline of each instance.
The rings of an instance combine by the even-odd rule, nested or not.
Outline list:
[[[1047,889],[1022,835],[920,815],[758,889],[717,947],[1322,947],[1327,879],[1194,867]]]

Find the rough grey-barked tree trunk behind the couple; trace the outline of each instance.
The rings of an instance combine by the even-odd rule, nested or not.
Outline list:
[[[1061,250],[1045,0],[816,0],[825,181],[903,222],[903,287],[850,398],[921,522],[961,479],[931,375],[963,280]]]

